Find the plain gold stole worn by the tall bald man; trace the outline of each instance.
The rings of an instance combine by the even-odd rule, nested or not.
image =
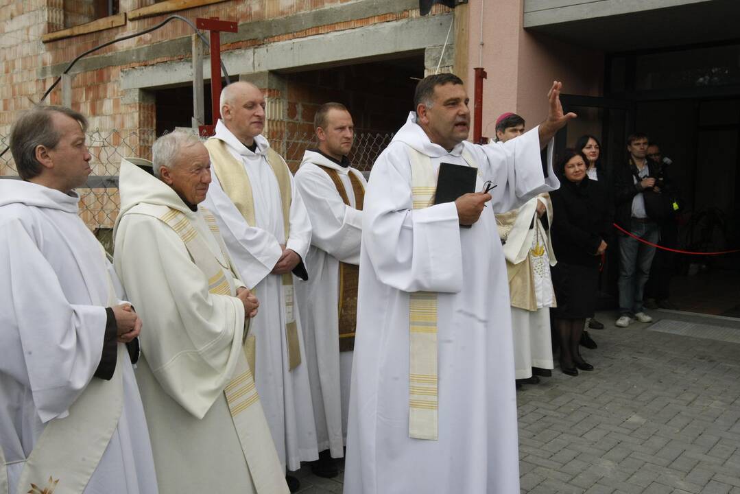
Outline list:
[[[229,150],[226,149],[226,143],[219,138],[209,138],[206,141],[206,147],[211,154],[211,166],[215,170],[223,192],[226,193],[226,196],[229,196],[247,224],[254,227],[256,224],[255,199],[252,196],[252,184],[249,182],[249,176],[244,170],[244,165],[234,158],[232,153],[229,153]],[[272,147],[267,148],[267,163],[272,168],[272,172],[275,173],[278,187],[280,187],[280,202],[283,206],[283,229],[287,242],[290,233],[290,204],[292,200],[290,170],[283,158],[280,158],[280,155],[272,150]],[[293,370],[300,364],[300,344],[298,343],[298,327],[295,321],[292,273],[283,274],[283,298],[286,306],[285,331],[288,341],[289,370]]]

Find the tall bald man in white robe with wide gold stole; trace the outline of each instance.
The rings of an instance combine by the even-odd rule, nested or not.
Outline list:
[[[223,88],[221,119],[206,142],[213,182],[205,205],[216,216],[238,275],[260,299],[249,331],[257,390],[280,461],[298,470],[300,461],[318,458],[300,311],[293,296],[294,281],[307,277],[303,261],[311,222],[285,161],[260,135],[264,108],[264,96],[253,84],[240,81]]]

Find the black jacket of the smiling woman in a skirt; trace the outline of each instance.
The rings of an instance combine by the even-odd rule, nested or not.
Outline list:
[[[551,236],[555,258],[565,264],[597,266],[596,250],[612,236],[609,199],[605,187],[588,177],[580,184],[567,178],[550,193],[553,201]]]

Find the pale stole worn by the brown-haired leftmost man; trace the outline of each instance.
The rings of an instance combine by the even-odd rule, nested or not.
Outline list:
[[[113,307],[117,297],[110,276],[106,276],[106,303],[107,307]],[[84,491],[118,427],[124,405],[122,369],[128,353],[126,345],[117,344],[117,347],[118,360],[110,381],[92,378],[70,406],[70,415],[54,418],[44,427],[21,470],[18,494],[41,494],[47,490],[55,494],[81,494]],[[0,467],[5,470],[4,461]],[[2,492],[7,492],[7,487]]]

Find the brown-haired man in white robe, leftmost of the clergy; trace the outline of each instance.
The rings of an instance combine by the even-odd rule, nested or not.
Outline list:
[[[141,320],[78,216],[85,128],[49,106],[11,130],[22,180],[0,181],[2,493],[157,492],[132,368]]]

